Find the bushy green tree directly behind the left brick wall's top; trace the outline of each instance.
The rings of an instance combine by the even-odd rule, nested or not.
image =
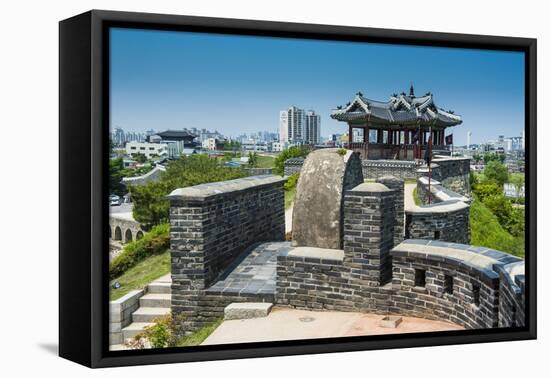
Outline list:
[[[244,176],[244,170],[224,167],[206,154],[182,156],[169,163],[159,181],[129,188],[134,218],[146,227],[166,222],[170,205],[165,197],[174,189]]]

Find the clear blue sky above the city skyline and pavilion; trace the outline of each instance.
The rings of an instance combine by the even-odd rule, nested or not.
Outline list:
[[[111,127],[278,129],[290,105],[321,114],[321,134],[343,133],[329,115],[358,91],[387,101],[414,85],[463,124],[457,145],[520,136],[524,57],[515,52],[113,29]],[[448,133],[449,133],[448,132]]]

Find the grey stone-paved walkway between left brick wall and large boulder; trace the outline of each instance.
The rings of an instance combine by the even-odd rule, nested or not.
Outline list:
[[[277,256],[288,253],[290,248],[290,242],[268,242],[253,246],[207,292],[275,295]]]

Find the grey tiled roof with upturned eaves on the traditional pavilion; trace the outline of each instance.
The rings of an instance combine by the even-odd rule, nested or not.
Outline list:
[[[330,117],[342,122],[368,122],[372,125],[448,127],[462,123],[460,116],[437,107],[431,93],[419,97],[402,93],[382,102],[368,99],[359,92],[353,101],[334,110]]]

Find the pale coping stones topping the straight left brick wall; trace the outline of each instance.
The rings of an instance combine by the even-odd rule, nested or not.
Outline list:
[[[166,198],[168,200],[205,201],[214,196],[236,193],[247,189],[260,188],[266,185],[284,183],[285,177],[275,175],[249,176],[235,180],[211,182],[178,188],[172,191]]]

